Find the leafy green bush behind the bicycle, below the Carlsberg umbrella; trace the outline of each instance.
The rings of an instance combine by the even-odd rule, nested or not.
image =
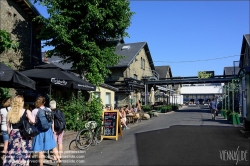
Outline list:
[[[57,101],[57,108],[61,109],[65,115],[67,130],[79,131],[85,128],[84,125],[88,121],[101,123],[102,101],[94,95],[91,96],[91,102],[84,101],[81,93],[78,96],[72,95],[70,100],[54,99]]]

